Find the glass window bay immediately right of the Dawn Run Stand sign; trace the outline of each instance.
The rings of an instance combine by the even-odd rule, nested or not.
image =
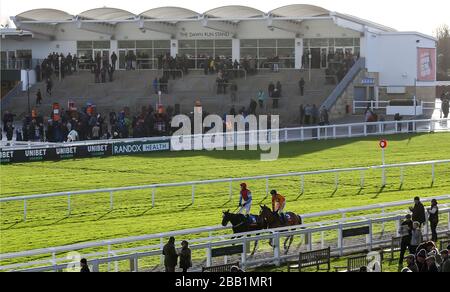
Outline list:
[[[281,68],[295,67],[294,39],[241,40],[241,62],[256,59],[258,68],[270,68],[278,57]]]

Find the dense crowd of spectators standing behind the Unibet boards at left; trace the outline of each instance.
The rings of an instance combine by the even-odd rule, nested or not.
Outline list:
[[[122,138],[143,138],[163,136],[170,131],[172,107],[154,109],[143,107],[141,112],[131,115],[128,108],[122,111],[101,114],[95,105],[88,104],[81,110],[61,110],[60,115],[49,117],[39,115],[33,110],[22,120],[20,128],[15,130],[15,140],[31,142],[73,142],[83,140],[105,140]],[[15,115],[5,112],[3,115],[4,132],[7,140],[14,136]]]

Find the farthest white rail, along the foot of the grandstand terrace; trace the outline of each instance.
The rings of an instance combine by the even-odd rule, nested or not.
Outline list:
[[[448,119],[422,119],[422,120],[404,120],[404,121],[387,121],[374,123],[351,123],[351,124],[334,124],[326,126],[298,127],[271,129],[260,131],[247,131],[235,133],[220,134],[203,134],[190,135],[184,137],[152,137],[137,139],[117,139],[117,140],[98,140],[98,141],[79,141],[73,143],[42,143],[42,142],[0,142],[1,150],[23,150],[32,148],[51,148],[51,147],[73,147],[84,145],[99,144],[115,144],[115,143],[133,143],[133,142],[158,142],[170,141],[171,139],[187,139],[192,140],[194,144],[195,138],[209,138],[223,135],[224,147],[227,146],[245,146],[257,143],[263,137],[277,139],[278,142],[303,142],[311,140],[329,140],[340,138],[360,138],[379,135],[394,135],[405,133],[430,133],[430,132],[449,132],[450,118]],[[259,136],[259,140],[258,140]],[[243,139],[239,139],[243,137]],[[254,138],[252,143],[251,138]],[[267,143],[267,142],[266,142]]]

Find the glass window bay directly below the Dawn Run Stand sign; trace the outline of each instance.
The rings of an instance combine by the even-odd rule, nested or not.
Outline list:
[[[186,56],[191,69],[203,69],[209,58],[231,59],[232,40],[180,40],[178,55]]]

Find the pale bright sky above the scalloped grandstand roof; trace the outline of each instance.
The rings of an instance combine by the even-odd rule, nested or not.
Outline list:
[[[371,20],[400,31],[418,31],[434,35],[442,25],[450,25],[449,0],[0,0],[2,23],[10,16],[36,8],[64,10],[72,15],[98,7],[114,7],[134,14],[161,6],[179,6],[199,13],[225,5],[246,5],[264,12],[289,4],[312,4],[331,11]]]

